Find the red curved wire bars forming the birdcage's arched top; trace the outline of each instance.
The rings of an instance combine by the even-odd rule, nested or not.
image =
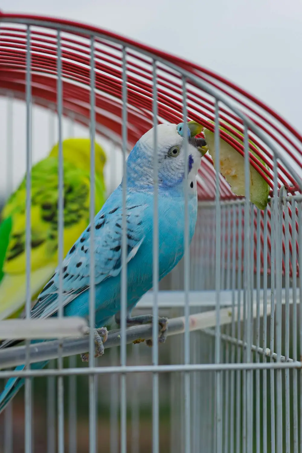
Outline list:
[[[243,132],[244,115],[249,118],[263,135],[249,133],[249,138],[257,145],[250,144],[250,163],[269,184],[273,195],[273,150],[280,154],[278,160],[278,189],[284,185],[288,196],[301,195],[302,188],[302,136],[281,116],[249,93],[236,87],[223,77],[177,57],[133,43],[124,38],[88,26],[79,27],[67,21],[53,21],[49,18],[23,17],[20,15],[1,16],[0,30],[0,90],[8,91],[17,99],[25,96],[26,70],[26,29],[20,22],[31,25],[31,84],[32,100],[37,106],[56,111],[57,102],[57,32],[61,30],[62,47],[62,103],[63,115],[74,121],[88,125],[90,118],[90,39],[95,37],[96,68],[96,131],[121,144],[122,135],[122,46],[127,46],[127,147],[130,150],[137,140],[153,125],[153,59],[157,60],[156,92],[158,96],[158,123],[182,120],[182,74],[187,75],[187,117],[196,120],[214,131],[209,120],[215,119],[216,96],[228,101],[220,106],[219,118],[226,130],[234,135],[234,129]],[[8,23],[8,24],[7,24]],[[14,26],[12,26],[14,24]],[[120,41],[120,42],[119,42]],[[191,76],[191,78],[190,78]],[[196,83],[198,79],[199,83]],[[233,109],[239,109],[241,116]],[[221,137],[238,153],[244,155],[244,147],[225,131]],[[235,132],[236,134],[236,132]],[[238,138],[240,138],[240,135]],[[263,141],[264,138],[264,141]],[[265,140],[267,139],[267,140]],[[271,146],[270,146],[271,145]],[[257,159],[261,158],[268,168]],[[252,154],[254,151],[254,154]],[[214,201],[216,193],[216,172],[211,156],[206,154],[199,171],[198,198],[201,201]],[[223,201],[237,200],[230,186],[220,176],[220,198]],[[298,198],[297,198],[298,199]],[[291,207],[288,206],[291,217]],[[262,215],[263,216],[263,215]],[[296,224],[298,227],[298,225]],[[261,221],[263,237],[263,219]],[[283,224],[283,233],[284,233]],[[268,236],[271,221],[268,207]],[[289,247],[292,260],[292,226],[290,226]],[[238,231],[236,232],[238,237]],[[283,255],[285,253],[283,238]],[[270,237],[268,237],[270,244]],[[264,267],[263,242],[261,250],[261,269]],[[233,250],[233,249],[232,249]],[[297,251],[298,252],[298,251]],[[236,256],[240,251],[236,251]],[[243,253],[243,250],[242,252]],[[254,243],[256,253],[256,241]],[[237,260],[236,260],[237,261]],[[270,272],[270,246],[268,246],[267,265]],[[232,262],[232,260],[231,260]],[[236,264],[237,266],[237,264]],[[297,254],[297,275],[299,273]],[[283,274],[285,265],[283,259]],[[292,262],[290,264],[292,273]]]

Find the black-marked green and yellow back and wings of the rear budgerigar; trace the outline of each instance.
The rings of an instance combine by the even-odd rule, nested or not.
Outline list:
[[[63,173],[66,254],[89,223],[90,177],[89,173],[68,162],[64,163]],[[96,176],[96,212],[105,202],[104,188],[104,182]],[[2,212],[3,218],[13,218],[12,234],[9,245],[6,246],[4,271],[25,271],[25,199],[24,178]],[[58,251],[58,159],[54,157],[38,162],[32,169],[31,235],[33,270],[54,259]]]

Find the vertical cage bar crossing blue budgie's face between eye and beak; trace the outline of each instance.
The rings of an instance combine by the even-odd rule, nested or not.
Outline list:
[[[184,289],[185,289],[185,333],[184,333],[184,363],[190,363],[190,330],[189,330],[189,289],[190,289],[190,241],[189,241],[189,185],[188,185],[188,137],[187,137],[187,87],[186,78],[182,78],[182,116],[184,134],[184,156],[185,156],[185,209],[184,209]],[[184,391],[185,391],[185,452],[191,453],[191,408],[190,408],[190,373],[185,372],[184,376]]]

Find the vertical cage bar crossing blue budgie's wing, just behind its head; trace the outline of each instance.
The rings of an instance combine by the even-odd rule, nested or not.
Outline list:
[[[127,192],[127,75],[126,75],[126,49],[122,49],[122,71],[123,71],[123,121],[122,121],[122,150],[123,150],[123,210],[122,210],[122,270],[121,270],[121,303],[120,303],[120,327],[121,327],[121,346],[120,346],[120,364],[126,365],[126,316],[127,316],[127,224],[126,224],[126,192]],[[120,449],[121,453],[126,453],[127,449],[127,400],[126,400],[126,375],[120,376]]]

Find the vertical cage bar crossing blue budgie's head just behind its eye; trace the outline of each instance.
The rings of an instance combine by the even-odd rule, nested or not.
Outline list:
[[[157,152],[157,78],[156,61],[153,61],[153,348],[152,362],[158,365],[158,152]],[[152,451],[159,452],[159,401],[158,373],[153,373],[152,400]]]

